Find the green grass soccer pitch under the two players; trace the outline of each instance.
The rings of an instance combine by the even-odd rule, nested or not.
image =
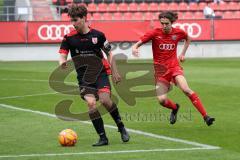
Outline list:
[[[151,61],[129,63],[136,63],[138,68],[138,63],[149,65]],[[147,83],[143,86],[133,85],[131,90],[153,89],[149,84],[152,76],[144,76],[144,71],[131,72],[121,62],[118,64],[122,72],[130,72],[128,79],[143,75],[141,82]],[[91,147],[98,137],[89,122],[63,121],[52,117],[56,104],[61,100],[73,101],[73,113],[87,110],[79,96],[56,93],[49,87],[49,76],[56,67],[57,62],[0,62],[0,160],[240,159],[239,58],[188,59],[183,64],[190,87],[199,94],[209,115],[216,118],[211,127],[204,124],[188,98],[176,87],[169,94],[181,105],[175,125],[169,124],[170,111],[160,107],[154,96],[136,98],[136,104],[129,105],[117,94],[118,88],[113,87],[113,93],[119,99],[122,118],[131,131],[131,140],[122,143],[117,129],[111,128],[115,126],[113,120],[105,114],[103,118],[108,125],[106,132],[110,145],[99,148]],[[75,83],[75,76],[71,73],[66,81]],[[122,93],[131,99],[129,92],[122,90]],[[58,133],[66,128],[72,128],[78,134],[74,147],[58,144]],[[169,137],[173,140],[168,140]],[[220,149],[203,149],[198,144]]]

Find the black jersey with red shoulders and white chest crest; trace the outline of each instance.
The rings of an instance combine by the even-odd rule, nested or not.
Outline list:
[[[105,46],[109,46],[109,43],[104,33],[92,28],[86,34],[81,34],[76,30],[73,30],[72,32],[64,36],[59,53],[68,54],[70,51],[74,63],[76,63],[76,61],[78,60],[85,60],[85,67],[81,67],[79,69],[76,68],[78,77],[83,76],[87,69],[87,65],[97,66],[96,63],[102,63],[101,65],[103,66],[103,68],[101,68],[101,72],[106,72],[110,74],[111,71],[109,63],[103,57],[103,51],[105,50]],[[101,61],[94,60],[94,58],[96,57],[99,58],[99,60]],[[74,61],[74,59],[78,60]],[[95,69],[99,68],[95,67]]]

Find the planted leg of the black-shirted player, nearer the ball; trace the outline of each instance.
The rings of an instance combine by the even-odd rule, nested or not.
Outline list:
[[[108,145],[108,139],[104,129],[104,123],[99,111],[96,108],[96,96],[94,94],[85,94],[84,100],[87,102],[89,117],[92,121],[92,124],[99,135],[99,141],[93,146],[103,146]]]

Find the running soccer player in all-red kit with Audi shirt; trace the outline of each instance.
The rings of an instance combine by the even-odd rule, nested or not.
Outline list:
[[[184,77],[183,69],[179,64],[184,62],[185,53],[191,42],[190,37],[181,29],[172,27],[172,23],[178,18],[177,13],[166,11],[159,14],[162,28],[156,28],[143,35],[140,40],[133,45],[132,54],[139,57],[139,47],[152,40],[156,94],[159,103],[172,110],[170,123],[174,124],[177,120],[179,104],[167,98],[171,83],[175,83],[183,93],[189,97],[195,108],[201,113],[208,126],[213,124],[214,118],[208,116],[199,96],[188,86]],[[185,40],[183,50],[177,58],[177,45],[181,40]]]

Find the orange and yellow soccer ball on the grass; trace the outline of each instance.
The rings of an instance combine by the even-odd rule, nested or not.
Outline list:
[[[77,133],[71,129],[62,130],[58,135],[58,140],[62,146],[74,146],[77,143]]]

